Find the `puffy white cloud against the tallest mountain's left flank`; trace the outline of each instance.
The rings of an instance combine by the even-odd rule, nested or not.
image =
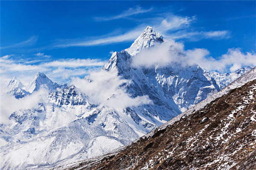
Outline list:
[[[87,81],[87,79],[91,81]],[[108,105],[112,108],[125,108],[151,102],[148,96],[131,98],[126,94],[124,86],[130,81],[119,77],[117,71],[93,71],[87,79],[73,78],[71,84],[87,94],[90,101],[95,104]]]

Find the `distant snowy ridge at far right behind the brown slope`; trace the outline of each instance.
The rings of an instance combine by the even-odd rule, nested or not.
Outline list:
[[[216,71],[211,71],[210,74],[215,79],[218,86],[222,89],[222,88],[226,87],[227,85],[229,85],[234,80],[236,80],[237,78],[241,77],[242,75],[244,75],[245,73],[250,71],[251,69],[252,69],[251,66],[247,66],[245,68],[239,68],[237,71],[235,71],[233,73],[221,74]]]

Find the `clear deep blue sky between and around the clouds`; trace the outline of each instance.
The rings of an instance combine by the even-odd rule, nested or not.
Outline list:
[[[115,16],[138,5],[153,9],[129,19],[102,22],[93,19]],[[32,36],[38,38],[33,45],[1,49],[1,57],[10,54],[35,57],[35,53],[43,52],[51,55],[51,59],[108,59],[110,51],[128,48],[133,40],[89,47],[49,47],[57,40],[90,40],[106,34],[118,35],[139,26],[140,19],[145,23],[148,18],[148,23],[152,23],[150,18],[162,13],[196,16],[197,20],[189,28],[191,31],[230,31],[228,39],[177,40],[184,43],[185,49],[206,48],[215,58],[225,54],[228,48],[256,51],[256,1],[1,1],[0,8],[1,47],[12,46]]]

